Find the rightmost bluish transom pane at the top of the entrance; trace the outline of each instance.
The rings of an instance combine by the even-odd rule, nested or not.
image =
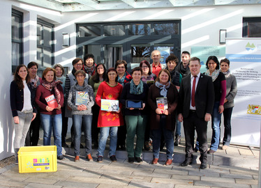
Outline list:
[[[179,24],[154,24],[155,35],[177,35],[179,34]]]

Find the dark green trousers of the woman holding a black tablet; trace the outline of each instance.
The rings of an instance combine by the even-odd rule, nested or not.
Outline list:
[[[141,157],[144,143],[147,116],[125,116],[127,127],[126,148],[128,157]],[[134,151],[134,137],[137,134],[137,141]]]

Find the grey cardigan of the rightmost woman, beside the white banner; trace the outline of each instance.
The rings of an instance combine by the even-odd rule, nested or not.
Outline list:
[[[225,98],[228,102],[225,102],[224,108],[228,109],[234,107],[234,97],[237,95],[237,79],[232,74],[225,75],[225,80],[227,82],[227,93]]]

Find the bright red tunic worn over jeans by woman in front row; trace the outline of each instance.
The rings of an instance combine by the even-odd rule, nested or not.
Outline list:
[[[116,86],[111,87],[106,83],[106,81],[103,81],[98,87],[95,98],[96,104],[100,107],[101,99],[119,100],[122,88],[123,86],[119,83],[117,83]],[[119,107],[122,109],[122,104],[120,104],[120,102]],[[118,127],[121,125],[124,125],[124,118],[122,117],[121,112],[117,113],[116,111],[107,112],[100,110],[98,116],[98,127]]]

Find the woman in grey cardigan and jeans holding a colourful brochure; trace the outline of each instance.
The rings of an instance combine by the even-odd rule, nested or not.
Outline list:
[[[75,72],[76,84],[70,88],[68,95],[68,106],[72,109],[74,137],[75,162],[80,162],[80,143],[82,135],[82,124],[84,126],[85,152],[88,161],[91,157],[91,107],[94,106],[94,91],[87,81],[84,81],[86,74],[84,70]]]

